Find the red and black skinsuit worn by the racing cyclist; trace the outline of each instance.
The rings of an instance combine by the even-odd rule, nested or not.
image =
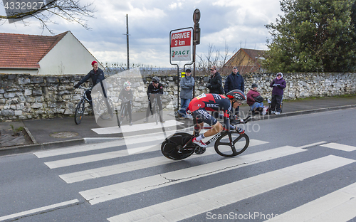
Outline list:
[[[219,115],[219,111],[223,111],[224,128],[235,130],[234,126],[230,125],[229,114],[231,113],[230,99],[224,95],[219,94],[201,94],[195,97],[189,103],[188,110],[197,118],[198,123],[206,122],[209,125],[215,125],[217,120],[215,117]],[[206,111],[213,111],[214,117]]]

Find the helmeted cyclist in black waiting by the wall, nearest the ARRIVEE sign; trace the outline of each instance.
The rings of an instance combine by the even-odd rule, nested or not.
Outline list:
[[[155,95],[152,95],[155,94]],[[148,96],[148,107],[147,107],[147,111],[146,111],[146,119],[144,122],[148,122],[148,116],[152,113],[152,104],[151,104],[151,99],[153,101],[154,97],[157,97],[157,103],[158,103],[158,107],[159,107],[159,112],[162,114],[162,101],[161,101],[161,95],[163,94],[163,85],[161,83],[159,83],[159,78],[157,76],[155,76],[154,78],[152,78],[152,83],[150,83],[150,85],[148,85],[147,88],[147,96]],[[162,115],[159,115],[160,118],[160,122],[164,122]]]

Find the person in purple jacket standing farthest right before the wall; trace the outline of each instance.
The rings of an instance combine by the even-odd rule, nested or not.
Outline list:
[[[277,78],[272,80],[272,83],[269,86],[273,88],[272,101],[271,101],[271,113],[280,115],[281,102],[283,99],[283,89],[286,88],[287,86],[286,80],[283,79],[283,73],[277,73]]]

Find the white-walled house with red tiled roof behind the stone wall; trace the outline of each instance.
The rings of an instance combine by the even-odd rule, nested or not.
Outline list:
[[[0,33],[0,74],[85,75],[93,60],[70,31],[56,36]]]

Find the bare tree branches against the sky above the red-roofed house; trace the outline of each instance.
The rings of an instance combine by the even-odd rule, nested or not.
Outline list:
[[[4,3],[5,2],[6,1],[4,1]],[[16,11],[14,13],[7,14],[6,16],[0,15],[0,21],[21,19],[21,21],[23,21],[23,23],[26,25],[26,21],[24,21],[23,19],[27,18],[28,16],[31,16],[33,18],[36,18],[40,22],[41,27],[43,29],[46,28],[52,33],[51,29],[48,28],[47,24],[56,23],[55,21],[51,20],[51,16],[54,15],[72,23],[79,23],[85,29],[90,29],[90,27],[86,23],[87,20],[85,19],[85,17],[93,17],[93,13],[95,11],[91,9],[92,5],[93,3],[80,5],[79,0],[48,0],[44,2],[43,6],[41,6],[41,9],[39,9],[39,7],[36,7],[36,9],[31,11]]]

